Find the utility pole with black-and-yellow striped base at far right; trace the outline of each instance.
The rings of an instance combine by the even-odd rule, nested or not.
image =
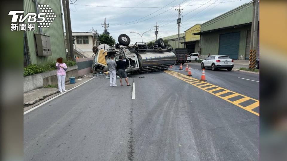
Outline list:
[[[257,34],[258,34],[258,0],[253,1],[253,17],[251,25],[251,42],[249,52],[249,69],[255,69],[256,49],[257,49]]]

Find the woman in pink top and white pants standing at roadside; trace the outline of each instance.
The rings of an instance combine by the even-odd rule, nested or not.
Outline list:
[[[57,67],[59,91],[60,93],[67,92],[65,90],[65,78],[66,78],[67,65],[63,63],[63,58],[57,59],[56,67]]]

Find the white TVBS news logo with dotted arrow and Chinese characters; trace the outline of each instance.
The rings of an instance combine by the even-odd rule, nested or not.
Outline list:
[[[57,15],[55,15],[49,5],[38,5],[38,7],[40,9],[39,12],[42,11],[39,14],[27,13],[24,15],[24,11],[10,11],[8,15],[12,15],[11,31],[34,31],[35,22],[38,23],[39,28],[50,27]],[[27,24],[23,23],[25,20],[27,20]]]

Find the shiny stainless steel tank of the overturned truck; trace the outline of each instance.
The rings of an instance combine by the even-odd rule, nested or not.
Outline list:
[[[139,67],[148,68],[151,66],[174,64],[176,56],[173,52],[138,52]]]

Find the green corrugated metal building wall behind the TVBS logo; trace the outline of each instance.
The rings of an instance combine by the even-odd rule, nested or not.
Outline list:
[[[59,57],[66,59],[64,29],[61,15],[61,1],[38,0],[38,3],[40,5],[48,4],[57,17],[53,20],[51,25],[49,25],[49,28],[42,28],[43,35],[50,36],[52,55],[37,56],[36,41],[34,38],[34,34],[40,33],[37,23],[35,23],[35,31],[26,32],[30,64],[46,64],[47,62],[56,61],[56,59]],[[39,12],[41,13],[40,10]],[[36,4],[32,0],[24,0],[24,14],[27,13],[36,13]],[[25,23],[27,23],[27,20],[25,21]]]

